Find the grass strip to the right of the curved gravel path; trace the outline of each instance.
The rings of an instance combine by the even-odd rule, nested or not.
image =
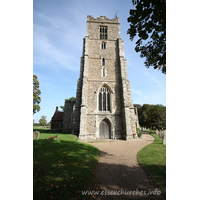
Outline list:
[[[156,134],[155,140],[141,149],[137,155],[138,162],[147,174],[156,182],[162,194],[166,194],[166,145]]]

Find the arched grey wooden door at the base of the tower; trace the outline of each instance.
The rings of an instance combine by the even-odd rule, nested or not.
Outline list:
[[[99,125],[99,138],[111,139],[111,128],[108,120],[104,119]]]

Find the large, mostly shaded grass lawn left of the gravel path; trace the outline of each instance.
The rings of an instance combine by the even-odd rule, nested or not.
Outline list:
[[[34,199],[89,199],[82,190],[93,190],[99,150],[78,141],[75,135],[40,131],[33,140]],[[45,140],[53,135],[55,140]]]

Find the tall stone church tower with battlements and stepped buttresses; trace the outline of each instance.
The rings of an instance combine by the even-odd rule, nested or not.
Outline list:
[[[63,131],[81,140],[132,140],[139,127],[131,99],[119,18],[87,16],[76,102],[66,101]]]

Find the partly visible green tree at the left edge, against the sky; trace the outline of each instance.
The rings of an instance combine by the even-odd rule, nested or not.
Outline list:
[[[39,95],[41,94],[41,91],[39,90],[39,81],[37,80],[37,76],[33,74],[33,114],[40,111],[40,104],[41,98]]]

